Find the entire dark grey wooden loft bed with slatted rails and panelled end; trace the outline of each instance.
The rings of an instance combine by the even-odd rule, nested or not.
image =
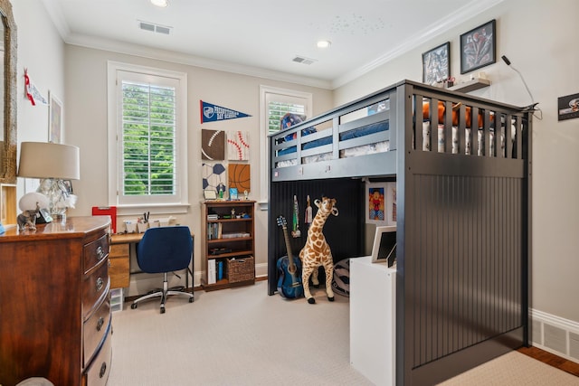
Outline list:
[[[271,135],[269,294],[294,195],[337,198],[337,261],[365,254],[365,182],[395,181],[396,384],[527,345],[531,126],[532,111],[403,80]]]

